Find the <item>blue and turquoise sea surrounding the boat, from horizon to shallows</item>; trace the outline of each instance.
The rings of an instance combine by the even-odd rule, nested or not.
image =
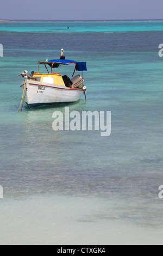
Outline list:
[[[130,232],[135,227],[135,239],[144,234],[142,243],[159,243],[156,234],[163,235],[163,199],[158,198],[163,161],[163,66],[158,56],[162,24],[162,21],[0,23],[0,43],[4,47],[4,57],[0,58],[3,223],[10,217],[11,222],[21,226],[15,210],[5,218],[5,212],[15,202],[19,206],[22,202],[26,204],[26,200],[29,204],[29,198],[37,202],[39,196],[40,209],[33,208],[34,203],[29,204],[29,209],[34,209],[35,216],[43,211],[43,220],[51,208],[41,208],[42,202],[48,198],[48,202],[60,205],[63,197],[65,208],[62,214],[58,211],[56,214],[57,218],[62,215],[64,219],[66,214],[70,215],[70,205],[76,205],[77,198],[82,198],[84,203],[78,207],[83,216],[78,218],[79,213],[75,211],[72,228],[81,222],[98,225],[100,220],[105,227],[101,234],[105,243],[122,242],[116,234],[111,240],[110,233],[107,240],[109,227],[115,231],[120,226],[123,227],[121,235],[125,229]],[[36,71],[38,60],[59,58],[62,47],[67,59],[87,62],[87,72],[84,72],[87,101],[85,103],[83,96],[77,103],[68,105],[70,111],[111,111],[109,137],[101,137],[100,131],[54,131],[52,114],[64,112],[64,106],[33,110],[24,106],[23,111],[17,113],[22,96],[22,78],[17,75],[24,69]],[[69,76],[73,73],[69,66],[62,70],[60,72],[67,72]],[[19,206],[15,206],[17,212]],[[87,208],[92,209],[89,214]],[[22,216],[23,211],[26,211],[24,205]],[[53,222],[53,218],[49,220]],[[71,234],[72,240],[71,236],[70,240],[63,236],[65,222],[64,219],[60,224],[59,240],[52,239],[55,232],[51,230],[49,242],[73,244],[74,234]],[[21,228],[17,239],[12,240],[3,223],[0,223],[5,234],[2,243],[24,243],[27,237],[20,239]],[[97,228],[100,234],[102,230],[96,224],[91,224],[90,230],[94,232]],[[33,225],[31,222],[31,230]],[[15,227],[10,229],[10,234],[12,232],[16,234]],[[39,232],[36,234],[39,243]],[[123,243],[128,239],[126,235]],[[30,243],[30,239],[28,241]],[[78,244],[83,240],[79,237],[75,241]],[[97,243],[98,237],[90,241]],[[134,243],[134,236],[130,243]]]

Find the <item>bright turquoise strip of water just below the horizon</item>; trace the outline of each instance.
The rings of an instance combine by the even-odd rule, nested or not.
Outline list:
[[[8,26],[9,25],[9,26]],[[67,27],[69,29],[67,30]],[[2,22],[1,31],[9,32],[131,32],[162,31],[162,20],[146,21],[11,21]]]

